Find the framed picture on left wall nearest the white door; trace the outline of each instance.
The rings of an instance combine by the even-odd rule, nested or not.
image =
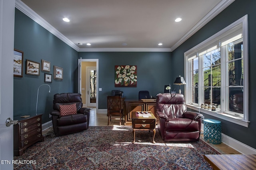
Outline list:
[[[22,77],[23,73],[23,51],[14,49],[13,76]]]

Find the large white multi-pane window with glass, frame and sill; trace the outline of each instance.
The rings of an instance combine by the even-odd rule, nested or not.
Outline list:
[[[248,127],[247,15],[184,57],[187,106]],[[198,109],[202,103],[216,106],[216,111]]]

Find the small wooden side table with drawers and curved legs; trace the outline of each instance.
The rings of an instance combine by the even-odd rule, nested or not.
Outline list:
[[[156,135],[156,117],[151,111],[133,111],[132,112],[132,131],[135,143],[135,131],[136,130],[153,130],[153,143]]]

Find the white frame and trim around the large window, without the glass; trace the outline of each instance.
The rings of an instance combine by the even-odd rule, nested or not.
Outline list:
[[[196,51],[198,51],[198,49],[204,49],[206,47],[208,47],[209,45],[213,44],[216,39],[222,39],[224,38],[227,33],[229,33],[230,31],[232,32],[232,29],[234,29],[235,27],[242,25],[242,39],[243,39],[243,71],[244,71],[244,82],[243,82],[243,102],[244,102],[244,113],[243,113],[243,117],[237,117],[234,112],[230,112],[227,111],[228,109],[228,101],[225,99],[223,96],[227,96],[226,94],[228,93],[228,91],[226,90],[227,88],[227,84],[225,83],[224,85],[221,84],[221,100],[224,101],[223,104],[225,104],[225,106],[222,106],[222,110],[218,109],[218,112],[212,112],[212,111],[208,111],[208,110],[204,110],[204,109],[200,109],[200,104],[203,103],[202,102],[202,97],[200,98],[200,96],[202,96],[202,90],[200,90],[200,88],[202,89],[203,86],[199,86],[196,87],[198,88],[198,104],[194,104],[192,103],[192,91],[194,90],[195,87],[192,87],[192,75],[191,75],[191,60],[188,61],[188,59],[193,58],[192,56],[194,56],[196,54]],[[220,47],[223,48],[223,47]],[[222,56],[222,55],[221,55]],[[221,66],[226,64],[226,58],[221,57]],[[202,66],[202,60],[198,58],[198,66]],[[202,67],[201,67],[202,68]],[[200,69],[200,68],[199,68]],[[223,67],[221,67],[221,71],[222,69],[225,69]],[[200,113],[204,114],[208,114],[208,115],[212,115],[214,117],[218,117],[220,119],[224,119],[226,121],[230,121],[232,123],[236,123],[238,125],[242,125],[244,127],[248,127],[249,126],[249,113],[248,113],[248,108],[249,108],[249,98],[248,98],[248,90],[249,90],[249,79],[248,79],[248,15],[243,16],[242,18],[240,18],[239,20],[235,21],[234,23],[228,25],[226,28],[222,29],[221,31],[219,31],[218,33],[212,35],[211,37],[209,37],[208,39],[206,39],[205,41],[203,41],[202,43],[199,43],[198,45],[196,45],[195,47],[193,47],[192,49],[186,51],[184,53],[184,72],[185,72],[185,100],[186,100],[186,105],[188,108],[190,109],[194,109],[199,111]],[[202,82],[202,80],[200,80],[199,76],[199,82]],[[227,75],[225,74],[221,74],[221,80],[227,80]],[[201,78],[202,79],[202,78]]]

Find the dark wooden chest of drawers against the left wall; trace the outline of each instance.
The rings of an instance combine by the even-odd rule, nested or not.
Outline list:
[[[14,156],[20,156],[24,150],[34,143],[44,141],[42,135],[42,115],[18,118],[13,127]]]

